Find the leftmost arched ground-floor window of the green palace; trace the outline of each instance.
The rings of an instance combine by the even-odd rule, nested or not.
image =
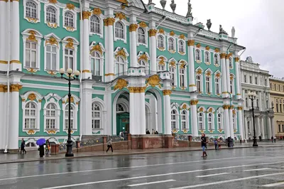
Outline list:
[[[28,102],[25,109],[25,129],[35,129],[36,105],[34,102]]]

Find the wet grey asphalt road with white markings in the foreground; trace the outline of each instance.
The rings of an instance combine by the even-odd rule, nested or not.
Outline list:
[[[0,165],[0,188],[284,188],[284,147]]]

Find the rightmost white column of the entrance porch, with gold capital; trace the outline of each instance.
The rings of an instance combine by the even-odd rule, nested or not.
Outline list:
[[[165,108],[165,134],[172,134],[172,126],[170,121],[170,94],[171,90],[164,90],[164,108]]]

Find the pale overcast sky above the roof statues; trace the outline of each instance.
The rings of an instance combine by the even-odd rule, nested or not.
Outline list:
[[[148,0],[143,0],[148,4]],[[185,16],[188,0],[175,0],[176,13]],[[153,0],[158,8],[160,0]],[[170,9],[167,0],[165,9]],[[201,22],[205,28],[211,19],[211,31],[219,32],[219,24],[231,36],[236,29],[238,44],[246,47],[241,60],[251,56],[261,69],[274,77],[284,77],[284,0],[191,0],[194,23]]]

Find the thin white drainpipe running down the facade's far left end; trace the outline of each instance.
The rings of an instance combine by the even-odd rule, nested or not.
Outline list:
[[[4,153],[8,153],[9,143],[9,118],[10,118],[10,6],[11,1],[8,1],[8,64],[7,64],[7,117],[6,117],[6,146]]]

